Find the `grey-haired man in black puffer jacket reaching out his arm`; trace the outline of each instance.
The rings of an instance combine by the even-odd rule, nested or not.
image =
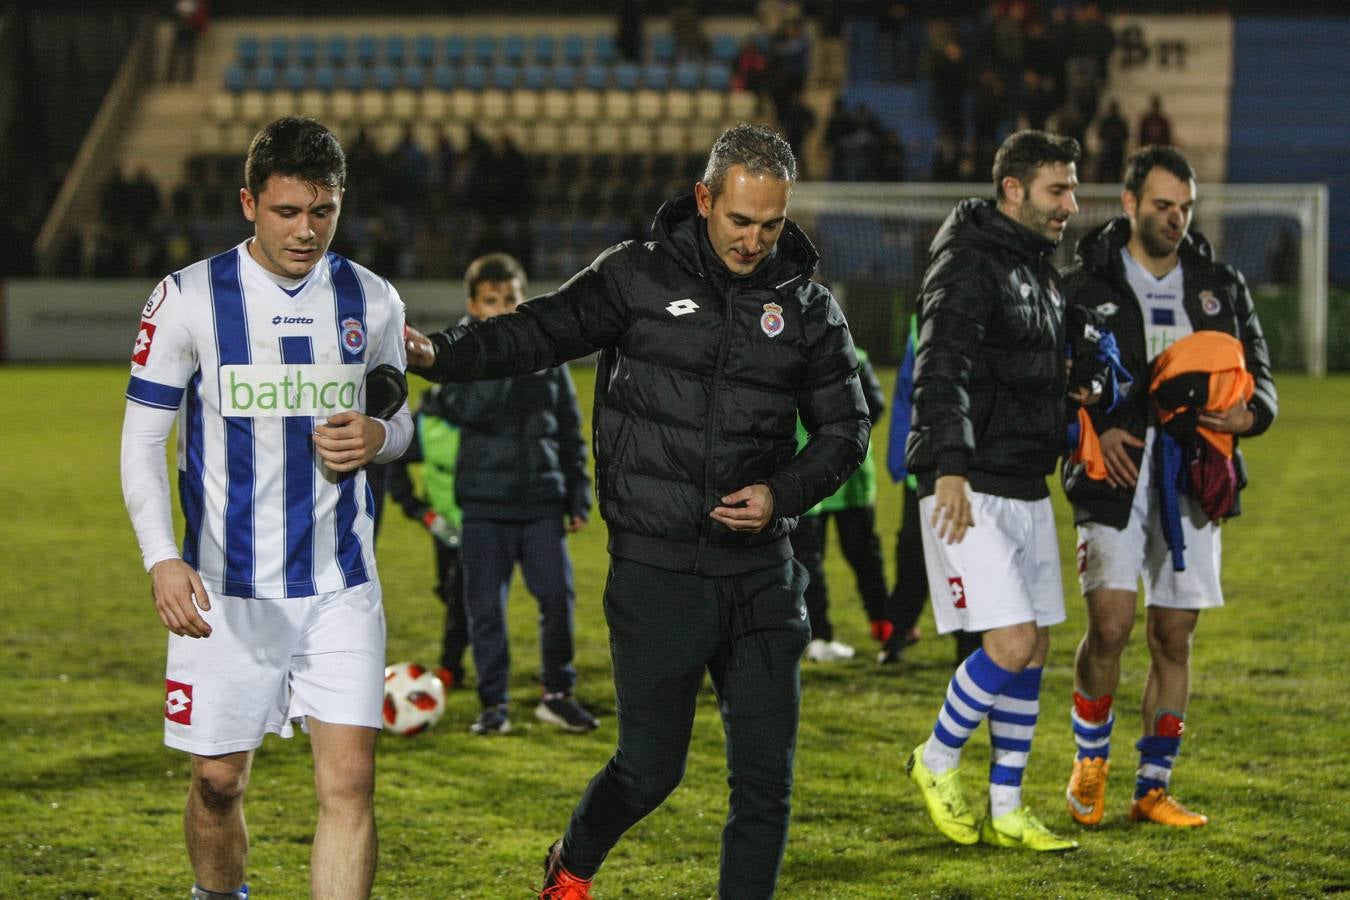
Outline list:
[[[429,341],[409,333],[413,366],[435,381],[601,351],[595,475],[620,746],[549,851],[548,896],[590,896],[624,831],[679,784],[705,671],[732,785],[720,892],[774,893],[810,640],[787,536],[853,472],[869,429],[848,325],[786,216],[795,177],[780,136],[730,128],[694,196],[657,213],[653,240],[612,247],[514,316]]]

